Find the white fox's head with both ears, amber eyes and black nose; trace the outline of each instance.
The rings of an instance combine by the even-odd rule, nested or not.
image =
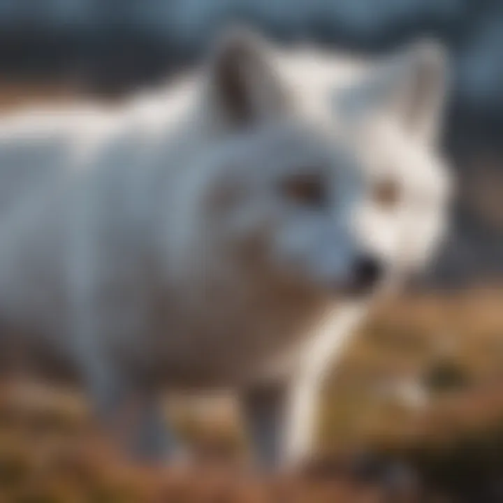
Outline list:
[[[421,268],[449,202],[442,48],[414,43],[348,87],[330,72],[317,79],[316,65],[287,78],[277,58],[247,31],[210,58],[207,244],[228,264],[335,296],[367,296]]]

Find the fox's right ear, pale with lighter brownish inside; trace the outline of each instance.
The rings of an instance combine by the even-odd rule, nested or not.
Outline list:
[[[370,72],[342,93],[343,110],[353,116],[384,112],[425,143],[435,143],[446,101],[447,54],[435,41],[422,40]]]

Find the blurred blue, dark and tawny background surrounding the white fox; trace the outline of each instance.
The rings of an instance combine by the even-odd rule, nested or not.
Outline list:
[[[0,0],[0,110],[121,99],[196,64],[235,20],[355,54],[435,36],[453,56],[449,240],[421,288],[375,310],[328,383],[319,446],[341,460],[339,485],[321,476],[323,490],[281,501],[503,502],[503,1]],[[180,428],[239,449],[224,409],[183,409]],[[75,397],[0,393],[0,502],[234,501],[223,481],[155,491],[135,477],[94,444]]]

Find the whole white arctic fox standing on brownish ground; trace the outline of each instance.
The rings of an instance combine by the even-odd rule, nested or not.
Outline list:
[[[263,465],[305,459],[324,372],[446,221],[444,50],[364,66],[238,29],[156,97],[3,119],[3,369],[78,379],[111,431],[135,404],[141,459],[180,388],[236,391]]]

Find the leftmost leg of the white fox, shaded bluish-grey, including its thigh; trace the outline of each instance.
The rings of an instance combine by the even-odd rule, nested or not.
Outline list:
[[[133,460],[160,463],[173,457],[175,437],[157,393],[138,384],[102,343],[105,334],[117,333],[113,318],[100,318],[93,309],[75,313],[73,351],[96,419]]]

